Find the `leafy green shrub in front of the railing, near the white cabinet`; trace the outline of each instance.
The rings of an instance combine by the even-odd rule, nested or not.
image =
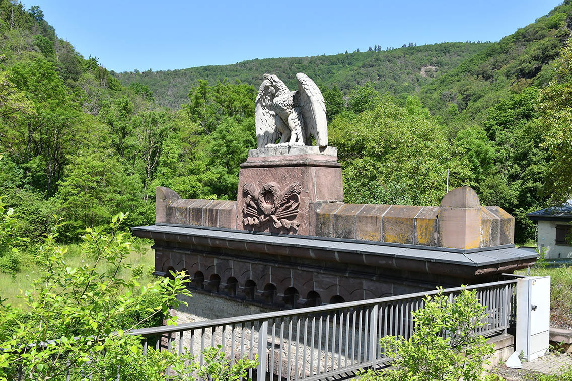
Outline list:
[[[362,372],[363,381],[375,380],[482,380],[484,364],[493,347],[475,330],[484,323],[485,307],[476,291],[462,292],[453,303],[442,292],[426,297],[425,305],[412,312],[415,330],[409,340],[386,336],[380,344],[394,367]]]

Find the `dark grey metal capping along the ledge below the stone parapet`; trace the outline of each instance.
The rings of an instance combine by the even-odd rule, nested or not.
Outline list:
[[[236,229],[214,229],[206,227],[183,227],[180,225],[152,225],[132,228],[134,232],[147,232],[149,236],[157,233],[197,236],[223,239],[237,242],[263,243],[279,246],[291,246],[307,249],[321,249],[332,252],[352,252],[358,254],[391,256],[403,259],[424,260],[439,263],[452,263],[471,267],[534,259],[537,253],[517,249],[514,245],[481,248],[479,251],[460,251],[460,249],[427,247],[421,245],[387,244],[365,240],[340,240],[329,237],[270,235],[251,233]],[[153,234],[155,233],[155,234]]]

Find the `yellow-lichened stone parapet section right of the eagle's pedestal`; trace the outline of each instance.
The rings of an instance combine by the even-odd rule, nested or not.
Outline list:
[[[452,229],[439,219],[440,207],[371,204],[313,204],[312,235],[411,245],[472,249],[513,244],[514,218],[499,207],[475,208],[475,239],[463,226],[467,211],[458,208]],[[463,231],[464,228],[464,231]],[[447,238],[454,236],[454,240]]]

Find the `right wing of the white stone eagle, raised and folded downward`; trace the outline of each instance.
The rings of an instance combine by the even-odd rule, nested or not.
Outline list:
[[[304,116],[305,141],[311,142],[310,135],[316,138],[320,147],[328,145],[328,121],[325,116],[325,102],[320,89],[304,73],[296,74],[298,91],[294,95],[294,104],[299,106]]]

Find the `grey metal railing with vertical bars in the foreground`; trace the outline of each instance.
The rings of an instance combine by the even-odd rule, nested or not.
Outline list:
[[[486,306],[484,326],[476,334],[506,332],[515,321],[517,280],[466,287],[476,289]],[[443,290],[452,301],[461,288]],[[197,356],[221,346],[228,358],[254,359],[259,366],[249,377],[257,380],[319,380],[348,374],[359,368],[380,367],[387,363],[379,339],[387,335],[408,339],[414,330],[411,312],[422,308],[427,295],[438,291],[383,297],[363,301],[289,309],[127,332],[144,338],[157,350],[177,350]]]

